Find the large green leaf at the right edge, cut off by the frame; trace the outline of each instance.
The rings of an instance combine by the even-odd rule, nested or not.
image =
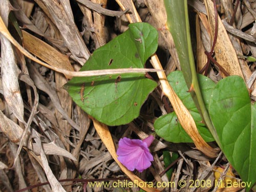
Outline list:
[[[218,82],[209,103],[209,114],[220,139],[220,147],[243,181],[256,181],[256,106],[251,104],[239,76]]]

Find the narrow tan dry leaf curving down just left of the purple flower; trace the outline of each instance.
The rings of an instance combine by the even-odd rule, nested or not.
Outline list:
[[[158,189],[156,189],[154,187],[149,187],[144,181],[142,181],[139,177],[134,175],[132,172],[130,172],[130,170],[128,170],[125,166],[123,166],[120,163],[120,161],[117,159],[115,145],[114,145],[114,142],[113,142],[113,139],[112,139],[112,136],[111,136],[108,126],[106,126],[103,123],[100,123],[99,121],[95,120],[92,117],[90,117],[90,118],[93,120],[94,127],[95,127],[100,139],[102,140],[102,142],[104,143],[106,148],[108,148],[108,151],[110,152],[113,159],[120,166],[122,172],[124,174],[126,174],[132,181],[138,181],[138,182],[142,182],[143,184],[145,184],[145,185],[143,185],[143,187],[141,187],[143,190],[145,190],[147,192],[159,191]]]

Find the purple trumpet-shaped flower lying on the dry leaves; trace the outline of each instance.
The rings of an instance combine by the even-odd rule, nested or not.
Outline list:
[[[118,160],[129,170],[137,169],[142,172],[151,166],[151,161],[154,161],[150,153],[149,146],[153,142],[154,137],[148,136],[144,140],[122,138],[119,141],[117,149]]]

